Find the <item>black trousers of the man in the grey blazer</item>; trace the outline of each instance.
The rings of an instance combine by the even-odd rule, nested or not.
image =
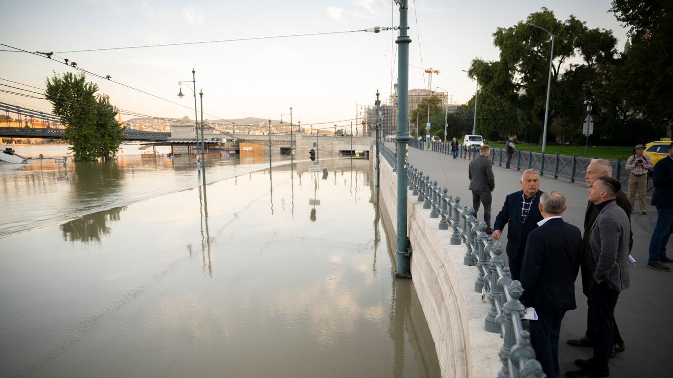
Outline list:
[[[614,337],[614,306],[617,304],[619,292],[611,289],[607,281],[597,283],[595,279],[589,284],[589,301],[591,302],[592,326],[594,330],[594,357],[592,365],[597,372],[608,366],[608,357],[612,351]]]

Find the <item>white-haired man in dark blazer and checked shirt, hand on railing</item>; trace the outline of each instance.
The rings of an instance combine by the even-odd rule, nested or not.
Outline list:
[[[505,204],[495,217],[493,225],[493,239],[498,240],[502,235],[505,224],[507,228],[507,260],[511,279],[519,279],[521,263],[528,234],[538,227],[542,215],[538,209],[540,202],[540,175],[534,169],[526,169],[521,175],[522,190],[505,197]]]

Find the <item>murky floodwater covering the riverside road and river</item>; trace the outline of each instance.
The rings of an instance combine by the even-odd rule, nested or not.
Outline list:
[[[369,160],[209,162],[204,190],[122,157],[0,171],[5,218],[52,220],[0,237],[1,377],[439,376]]]

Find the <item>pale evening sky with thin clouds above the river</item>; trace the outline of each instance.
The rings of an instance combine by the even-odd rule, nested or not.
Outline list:
[[[191,82],[194,68],[197,93],[203,90],[204,119],[279,120],[282,115],[287,122],[292,107],[293,123],[347,126],[361,117],[361,107],[374,103],[377,90],[386,103],[397,80],[398,32],[353,32],[397,26],[399,11],[392,0],[0,3],[5,15],[0,44],[12,47],[0,46],[0,90],[17,91],[5,86],[11,85],[40,92],[25,85],[44,89],[54,73],[76,72],[59,63],[67,58],[118,82],[87,75],[122,111],[193,118],[192,90],[183,84],[185,97],[177,94],[178,81]],[[541,7],[557,19],[575,15],[589,28],[612,30],[618,50],[623,49],[626,30],[608,12],[608,0],[409,0],[409,88],[427,88],[421,67],[433,68],[441,73],[433,75],[432,89],[446,89],[455,103],[465,103],[476,83],[462,70],[474,58],[497,60],[493,32]],[[297,34],[322,35],[267,38]],[[238,41],[73,52],[221,40]],[[50,60],[7,51],[13,48],[55,54]],[[0,101],[51,111],[44,99],[0,92]],[[122,114],[122,120],[131,117]]]

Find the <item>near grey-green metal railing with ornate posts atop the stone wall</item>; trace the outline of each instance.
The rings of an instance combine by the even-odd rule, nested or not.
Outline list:
[[[382,155],[394,167],[395,155],[385,146],[381,147]],[[441,148],[439,144],[438,148]],[[439,230],[452,232],[450,244],[465,244],[463,264],[477,269],[474,291],[491,303],[484,329],[499,333],[503,338],[499,352],[503,366],[498,377],[543,377],[542,365],[535,359],[530,345],[530,333],[522,324],[526,307],[519,298],[524,290],[519,281],[511,279],[509,267],[501,257],[502,244],[486,234],[486,222],[474,218],[473,207],[461,206],[460,197],[449,195],[446,187],[438,187],[437,181],[432,181],[411,164],[407,164],[406,169],[411,195],[418,196],[417,201],[423,202],[423,209],[430,210],[430,218],[439,220]]]

